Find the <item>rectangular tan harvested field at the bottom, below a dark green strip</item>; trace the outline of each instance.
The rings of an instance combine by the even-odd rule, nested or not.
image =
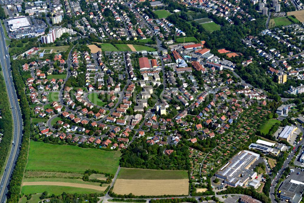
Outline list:
[[[116,194],[140,195],[188,195],[187,179],[174,180],[131,180],[117,179],[113,192]]]

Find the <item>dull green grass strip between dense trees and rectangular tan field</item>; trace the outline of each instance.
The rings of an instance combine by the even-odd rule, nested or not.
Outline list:
[[[188,179],[187,171],[121,168],[118,179]]]

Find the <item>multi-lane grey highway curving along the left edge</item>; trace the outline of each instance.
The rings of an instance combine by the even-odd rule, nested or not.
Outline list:
[[[1,177],[0,181],[0,199],[1,202],[6,201],[6,194],[8,192],[8,185],[10,181],[10,177],[14,170],[16,160],[19,154],[19,145],[21,144],[22,140],[22,116],[21,111],[18,103],[17,94],[14,88],[13,80],[12,80],[12,73],[10,71],[10,59],[8,50],[5,47],[5,40],[4,40],[4,32],[3,27],[0,26],[1,37],[0,37],[0,64],[2,67],[3,76],[5,79],[5,85],[9,96],[9,103],[12,110],[12,118],[13,118],[13,144],[9,151],[9,158],[5,165],[5,171],[3,176]],[[7,55],[7,57],[6,57]]]

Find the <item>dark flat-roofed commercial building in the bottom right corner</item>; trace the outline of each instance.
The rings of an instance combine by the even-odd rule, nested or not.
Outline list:
[[[302,200],[304,183],[296,180],[285,180],[279,190],[281,191],[280,198],[292,203],[299,203]]]

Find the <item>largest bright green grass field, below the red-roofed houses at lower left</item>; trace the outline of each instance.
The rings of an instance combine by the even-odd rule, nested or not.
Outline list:
[[[26,169],[71,172],[94,169],[115,174],[120,155],[120,151],[103,151],[32,141]]]

